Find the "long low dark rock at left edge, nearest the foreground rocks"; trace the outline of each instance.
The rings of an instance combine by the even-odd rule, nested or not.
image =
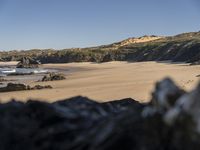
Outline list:
[[[35,85],[30,87],[29,85],[20,83],[8,83],[6,87],[0,88],[0,92],[11,92],[11,91],[24,91],[24,90],[40,90],[40,89],[52,89],[50,85]]]

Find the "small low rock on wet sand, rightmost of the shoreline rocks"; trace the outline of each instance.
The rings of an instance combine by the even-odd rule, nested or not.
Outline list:
[[[42,78],[42,81],[55,81],[66,79],[64,74],[61,73],[49,73]]]

